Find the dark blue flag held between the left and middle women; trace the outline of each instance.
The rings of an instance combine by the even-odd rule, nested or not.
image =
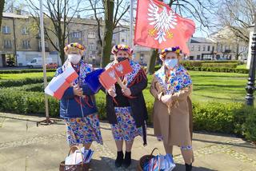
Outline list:
[[[99,76],[105,71],[105,69],[98,69],[86,74],[85,83],[89,86],[89,88],[97,93],[98,90],[102,87],[99,82]]]

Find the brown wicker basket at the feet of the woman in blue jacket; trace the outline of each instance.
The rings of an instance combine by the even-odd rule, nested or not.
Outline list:
[[[82,153],[82,151],[79,149],[78,146],[72,146],[70,148],[70,152],[72,149],[78,149],[80,151],[80,153]],[[68,154],[68,156],[70,156],[70,152]],[[89,163],[84,163],[84,158],[82,156],[82,163],[78,164],[78,165],[65,165],[65,161],[62,161],[59,165],[59,171],[88,171],[89,170]]]

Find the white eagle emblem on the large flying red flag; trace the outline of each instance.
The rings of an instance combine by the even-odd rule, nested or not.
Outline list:
[[[152,0],[150,0],[148,11],[148,20],[150,25],[154,26],[154,29],[149,30],[150,36],[156,36],[154,40],[158,40],[159,43],[166,42],[166,35],[167,38],[173,38],[170,29],[174,29],[177,25],[176,14],[172,10],[168,11],[166,6],[162,6],[162,12],[160,13],[159,7]]]

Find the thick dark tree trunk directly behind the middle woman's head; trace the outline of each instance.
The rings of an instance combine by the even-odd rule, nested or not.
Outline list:
[[[101,67],[105,67],[110,62],[112,37],[114,29],[114,0],[105,1],[105,28],[104,28],[104,38],[102,46],[102,61]]]

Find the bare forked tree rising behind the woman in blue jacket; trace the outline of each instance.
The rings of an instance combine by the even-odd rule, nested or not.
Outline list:
[[[33,16],[39,28],[39,9],[36,2],[26,0],[30,7],[30,14]],[[54,49],[58,51],[62,63],[65,62],[64,47],[66,39],[69,36],[69,25],[74,15],[77,13],[81,0],[75,3],[71,0],[46,0],[43,3],[44,11],[44,28],[46,38],[50,41]],[[55,42],[57,38],[58,43]]]

